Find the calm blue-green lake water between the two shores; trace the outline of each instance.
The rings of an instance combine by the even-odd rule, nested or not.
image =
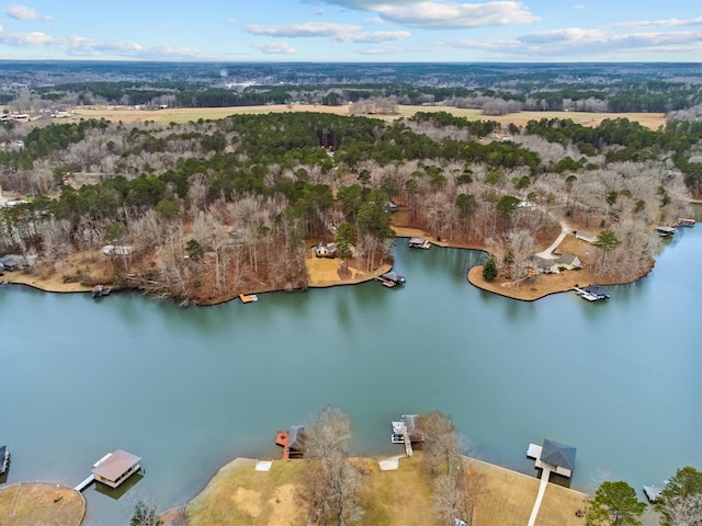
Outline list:
[[[86,491],[88,524],[128,521],[137,496],[180,505],[235,457],[280,458],[275,431],[324,405],[349,415],[353,453],[399,454],[389,423],[451,414],[474,456],[534,474],[530,442],[577,447],[571,487],[603,476],[661,484],[702,467],[702,225],[654,271],[521,302],[466,282],[480,253],[406,248],[378,283],[181,309],[132,294],[0,289],[0,443],[8,483],[76,485],[105,453],[144,457],[124,495]],[[118,498],[117,498],[118,496]]]

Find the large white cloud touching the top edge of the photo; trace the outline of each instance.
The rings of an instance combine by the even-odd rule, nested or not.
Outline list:
[[[523,24],[539,20],[521,2],[494,1],[485,3],[450,2],[443,0],[326,0],[359,11],[376,13],[387,22],[428,28],[468,28],[494,25]]]

